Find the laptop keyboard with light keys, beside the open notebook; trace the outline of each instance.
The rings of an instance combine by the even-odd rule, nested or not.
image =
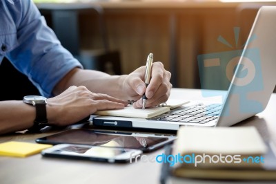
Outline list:
[[[221,104],[195,104],[189,107],[180,107],[168,113],[149,118],[148,120],[206,123],[219,117]]]

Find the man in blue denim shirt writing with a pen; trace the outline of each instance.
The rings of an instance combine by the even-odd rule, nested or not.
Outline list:
[[[48,98],[49,125],[71,125],[98,110],[122,109],[126,100],[137,100],[133,105],[141,108],[144,93],[148,98],[146,107],[155,106],[168,100],[172,88],[170,73],[161,62],[152,64],[148,87],[144,84],[145,66],[129,75],[116,76],[83,70],[46,26],[32,0],[0,1],[0,63],[3,57]],[[0,102],[0,134],[33,127],[36,110],[23,101]]]

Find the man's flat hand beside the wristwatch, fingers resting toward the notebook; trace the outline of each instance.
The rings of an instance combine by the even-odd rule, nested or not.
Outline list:
[[[109,95],[92,93],[85,86],[70,86],[66,91],[47,100],[49,124],[66,126],[105,109],[123,109],[128,103]]]

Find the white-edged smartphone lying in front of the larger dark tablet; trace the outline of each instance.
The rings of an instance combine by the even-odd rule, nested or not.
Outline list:
[[[41,151],[42,156],[47,157],[92,160],[108,163],[128,163],[130,159],[142,153],[139,149],[72,144],[55,145]]]

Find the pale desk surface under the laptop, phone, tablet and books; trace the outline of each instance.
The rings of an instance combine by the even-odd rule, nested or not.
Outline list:
[[[200,100],[201,91],[196,89],[172,89],[171,98]],[[276,94],[270,98],[267,108],[257,116],[236,126],[255,126],[264,140],[276,145]],[[50,132],[48,134],[53,134]],[[34,142],[46,134],[12,134],[0,136],[0,142],[18,140]],[[157,156],[163,149],[148,156]],[[83,160],[43,158],[40,154],[28,158],[0,157],[1,183],[159,183],[161,165],[142,162],[129,164],[95,163]]]

